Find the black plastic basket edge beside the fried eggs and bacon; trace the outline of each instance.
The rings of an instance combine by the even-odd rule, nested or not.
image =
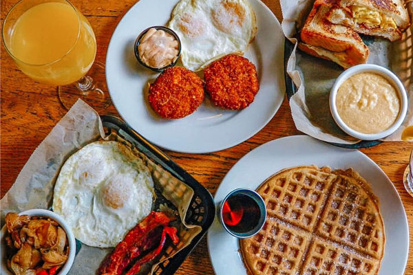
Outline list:
[[[139,135],[139,133],[132,130],[125,122],[112,115],[101,115],[100,118],[105,133],[109,134],[115,132],[117,135],[120,135],[120,137],[123,137],[123,139],[131,142],[131,144],[134,144],[139,151],[145,153],[145,155],[147,155],[153,162],[162,166],[162,168],[183,181],[194,191],[193,198],[187,210],[185,222],[190,225],[199,225],[202,228],[202,231],[193,238],[186,248],[182,249],[175,256],[160,263],[153,272],[153,274],[156,275],[174,274],[213,223],[215,216],[213,197],[211,196],[211,193],[189,175],[189,173],[173,162],[173,160],[160,151],[159,148],[145,140],[142,135]]]

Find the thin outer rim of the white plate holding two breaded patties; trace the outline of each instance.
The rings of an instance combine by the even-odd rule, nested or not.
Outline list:
[[[109,44],[107,46],[107,51],[106,51],[106,58],[105,58],[105,80],[106,80],[106,85],[107,85],[107,91],[109,92],[109,96],[112,100],[112,92],[111,89],[109,88],[109,74],[108,74],[108,60],[109,60],[109,50],[112,49],[113,47],[113,41],[114,41],[114,34],[118,31],[119,25],[120,23],[125,19],[125,17],[127,16],[127,14],[129,14],[129,12],[131,12],[131,10],[133,8],[135,8],[137,5],[139,5],[139,3],[141,3],[140,0],[136,3],[134,3],[134,5],[132,5],[129,10],[127,10],[127,12],[125,12],[125,14],[123,14],[122,18],[118,21],[116,28],[114,29],[114,32],[112,32],[112,35],[110,37],[109,40]],[[275,24],[277,25],[277,28],[279,28],[279,30],[282,31],[282,26],[281,23],[279,23],[277,17],[275,16],[275,14],[273,13],[273,11],[268,8],[268,6],[266,4],[264,4],[262,2],[262,0],[247,0],[247,1],[255,1],[257,4],[261,5],[262,8],[264,8],[264,10],[266,10],[266,12],[268,12],[268,14],[270,14],[270,17],[275,21]],[[177,0],[178,3],[178,0]],[[284,39],[285,41],[285,36],[284,33],[282,35],[282,39]],[[285,43],[284,41],[281,42],[281,46],[282,47],[282,56],[284,56],[284,50],[285,50]],[[251,46],[251,45],[250,45]],[[278,71],[282,70],[282,72],[279,72],[280,76],[281,76],[281,80],[280,80],[280,85],[279,85],[279,91],[280,94],[282,95],[282,100],[279,100],[279,102],[276,102],[276,104],[273,105],[273,109],[270,112],[268,112],[268,117],[262,121],[262,123],[260,123],[260,126],[257,126],[257,128],[254,131],[251,131],[250,133],[243,135],[242,137],[238,137],[237,139],[235,139],[233,142],[231,143],[226,143],[226,144],[222,144],[221,146],[213,146],[213,148],[198,148],[198,149],[191,149],[191,148],[173,148],[173,146],[170,146],[168,144],[160,144],[160,142],[156,142],[153,141],[151,139],[149,139],[148,137],[145,137],[145,135],[143,135],[145,138],[147,138],[151,143],[155,144],[156,146],[159,146],[160,148],[164,148],[165,150],[169,150],[169,151],[173,151],[173,152],[177,152],[177,153],[193,153],[193,154],[202,154],[202,153],[214,153],[214,152],[218,152],[218,151],[222,151],[228,148],[232,148],[233,146],[237,146],[238,144],[241,144],[242,142],[245,142],[246,140],[250,139],[251,137],[253,137],[254,135],[256,135],[258,132],[260,132],[262,129],[264,129],[264,127],[274,118],[275,114],[279,111],[279,108],[282,105],[282,102],[284,102],[284,99],[286,97],[286,87],[285,87],[285,74],[284,74],[284,65],[279,66],[278,67]],[[275,89],[277,90],[277,89]],[[118,111],[120,117],[131,127],[131,129],[134,129],[134,131],[137,131],[138,133],[140,133],[137,129],[135,129],[133,126],[131,126],[131,124],[129,124],[129,122],[127,122],[125,116],[123,115],[123,113],[120,112],[120,109],[118,108],[118,104],[116,104],[116,102],[114,102],[114,100],[112,100],[112,103],[114,104],[114,107],[116,109],[116,111]]]

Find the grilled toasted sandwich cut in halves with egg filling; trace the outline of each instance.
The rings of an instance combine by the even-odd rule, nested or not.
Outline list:
[[[343,68],[366,63],[369,50],[358,33],[401,39],[410,17],[403,0],[315,0],[301,30],[300,50]]]

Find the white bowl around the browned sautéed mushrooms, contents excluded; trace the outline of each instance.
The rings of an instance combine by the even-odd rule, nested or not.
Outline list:
[[[69,255],[67,257],[67,261],[65,265],[63,265],[63,267],[61,268],[59,273],[57,273],[57,275],[67,274],[70,270],[70,267],[72,267],[74,256],[76,254],[76,241],[74,239],[74,234],[72,232],[72,229],[69,227],[69,225],[67,225],[67,223],[65,223],[65,221],[63,220],[61,216],[49,210],[31,209],[31,210],[26,210],[26,211],[19,213],[19,215],[22,215],[22,214],[28,214],[30,216],[47,217],[47,218],[53,219],[54,221],[59,223],[59,225],[61,225],[63,230],[65,230],[66,235],[67,235],[67,240],[69,241]],[[6,274],[12,275],[12,272],[10,272],[7,268],[6,253],[4,253],[6,251],[6,242],[4,241],[4,238],[6,236],[6,230],[7,230],[6,225],[4,225],[3,228],[1,228],[1,232],[0,232],[1,251],[3,251],[3,253],[1,254],[1,264],[0,264],[1,272],[0,273],[5,274],[5,275]]]

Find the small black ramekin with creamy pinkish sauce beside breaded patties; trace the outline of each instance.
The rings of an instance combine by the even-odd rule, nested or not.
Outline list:
[[[181,43],[173,30],[153,26],[139,34],[134,43],[134,52],[140,65],[154,72],[162,72],[178,61]]]

